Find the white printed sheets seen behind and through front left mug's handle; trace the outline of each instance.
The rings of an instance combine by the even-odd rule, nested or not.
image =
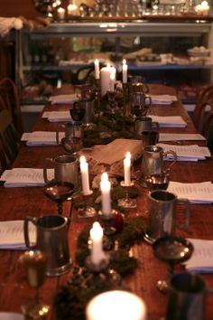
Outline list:
[[[29,224],[30,240],[36,240],[36,230]],[[23,220],[0,221],[0,249],[26,249],[23,236]]]

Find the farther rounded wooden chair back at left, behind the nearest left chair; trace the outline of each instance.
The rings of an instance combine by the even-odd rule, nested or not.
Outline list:
[[[14,81],[10,78],[0,80],[0,105],[7,108],[13,118],[14,127],[20,135],[23,134],[23,118],[18,99],[18,91]]]

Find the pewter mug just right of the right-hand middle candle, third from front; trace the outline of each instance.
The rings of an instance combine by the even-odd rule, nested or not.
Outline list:
[[[171,162],[171,165],[167,169],[167,171],[169,171],[171,169],[171,166],[174,165],[177,160],[176,153],[171,150],[163,152],[161,146],[145,146],[141,166],[142,184],[144,186],[146,186],[145,176],[150,174],[162,174],[162,172],[166,171],[163,167],[163,157],[167,155],[172,155],[174,158],[174,160]]]

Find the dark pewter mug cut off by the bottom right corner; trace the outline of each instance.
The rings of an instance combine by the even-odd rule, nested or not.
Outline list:
[[[203,320],[205,298],[213,294],[205,281],[190,272],[181,272],[171,278],[166,320]]]

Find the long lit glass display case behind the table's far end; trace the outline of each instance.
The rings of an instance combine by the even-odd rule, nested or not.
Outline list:
[[[43,104],[55,88],[93,77],[94,60],[128,75],[178,89],[192,102],[210,82],[212,24],[209,20],[70,21],[19,32],[18,76],[22,104]]]

